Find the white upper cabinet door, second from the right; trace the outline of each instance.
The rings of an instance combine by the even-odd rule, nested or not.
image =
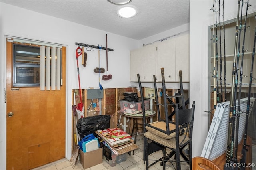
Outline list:
[[[175,39],[159,42],[156,51],[156,81],[162,81],[161,68],[164,68],[164,79],[166,82],[175,81]]]

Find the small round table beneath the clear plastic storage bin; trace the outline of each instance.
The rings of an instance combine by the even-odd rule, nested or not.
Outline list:
[[[136,139],[137,139],[137,132],[139,128],[143,128],[143,124],[138,123],[138,119],[143,118],[142,112],[137,113],[137,114],[130,114],[130,113],[122,113],[121,114],[124,116],[124,131],[126,132],[126,117],[130,117],[133,120],[133,127],[132,127],[132,133],[135,128],[135,138],[134,138],[134,144],[136,144]],[[147,123],[149,122],[151,117],[154,117],[156,115],[156,111],[153,110],[146,110],[145,111]],[[140,127],[138,127],[140,125]],[[131,134],[132,136],[132,134]],[[133,155],[134,155],[134,150],[133,150]]]

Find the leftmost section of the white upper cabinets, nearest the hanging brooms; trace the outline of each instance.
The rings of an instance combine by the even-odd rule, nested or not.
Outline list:
[[[130,51],[130,81],[152,82],[156,73],[156,45],[146,45]]]

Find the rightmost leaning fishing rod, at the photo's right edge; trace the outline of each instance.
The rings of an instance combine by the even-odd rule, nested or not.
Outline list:
[[[247,4],[248,6],[248,4]],[[256,16],[254,17],[256,20]],[[247,99],[247,107],[246,107],[246,119],[245,119],[245,127],[244,127],[244,143],[242,148],[242,154],[243,157],[240,160],[240,163],[246,162],[246,140],[247,140],[247,128],[248,128],[248,118],[249,118],[249,112],[250,112],[250,98],[251,98],[251,88],[252,88],[252,79],[255,80],[255,78],[252,77],[252,71],[253,71],[253,65],[254,65],[254,55],[255,55],[255,41],[256,41],[256,26],[255,26],[255,34],[254,34],[254,43],[253,43],[253,49],[252,49],[252,65],[251,65],[251,72],[250,72],[250,81],[249,81],[249,89],[248,89],[248,99]],[[241,170],[244,170],[245,167],[240,167]]]

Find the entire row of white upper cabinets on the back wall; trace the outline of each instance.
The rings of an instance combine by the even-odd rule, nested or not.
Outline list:
[[[161,82],[161,68],[166,82],[179,82],[179,70],[182,81],[189,82],[189,34],[130,51],[130,81],[138,81],[139,73],[142,82],[153,82],[153,75]]]

